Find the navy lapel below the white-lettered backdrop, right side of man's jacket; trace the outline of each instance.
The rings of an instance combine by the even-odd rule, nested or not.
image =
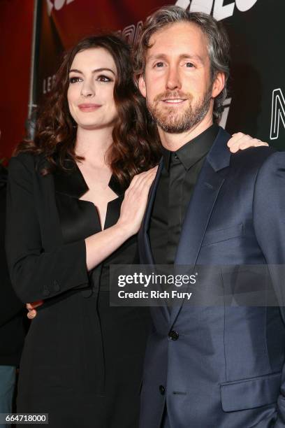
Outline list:
[[[182,226],[180,243],[175,257],[177,265],[184,264],[194,267],[197,262],[212,209],[228,173],[227,166],[231,153],[226,143],[229,138],[230,135],[224,129],[220,129],[212,149],[205,159]],[[171,325],[175,322],[182,304],[183,301],[173,306]]]

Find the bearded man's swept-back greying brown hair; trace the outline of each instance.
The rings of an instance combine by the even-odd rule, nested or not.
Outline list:
[[[134,55],[135,78],[145,73],[145,54],[149,45],[149,39],[163,27],[177,22],[193,22],[207,36],[207,50],[210,58],[211,78],[221,72],[225,75],[225,87],[221,93],[214,99],[213,118],[219,121],[223,111],[223,103],[227,95],[226,83],[229,76],[230,44],[228,34],[221,22],[217,22],[211,15],[199,12],[189,12],[180,8],[180,6],[164,6],[150,15],[144,27]]]

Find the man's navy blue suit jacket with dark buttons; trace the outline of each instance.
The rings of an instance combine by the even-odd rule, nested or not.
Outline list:
[[[285,153],[231,155],[229,138],[220,129],[205,159],[175,264],[285,264]],[[147,231],[161,168],[139,233],[142,264],[154,263]],[[279,306],[152,308],[141,428],[159,428],[165,404],[171,428],[285,427],[285,287],[274,281]]]

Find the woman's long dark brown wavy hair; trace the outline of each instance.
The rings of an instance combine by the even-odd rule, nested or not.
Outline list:
[[[112,145],[108,162],[112,173],[122,185],[129,185],[136,173],[157,164],[160,145],[154,127],[148,127],[145,100],[133,83],[131,48],[114,34],[89,36],[66,52],[54,79],[50,97],[38,109],[34,140],[24,140],[16,148],[19,152],[43,154],[49,166],[41,170],[43,175],[56,168],[65,169],[64,160],[81,162],[84,157],[75,154],[76,123],[68,108],[67,90],[69,71],[75,55],[91,48],[104,48],[112,55],[117,66],[114,99],[117,121],[112,131]]]

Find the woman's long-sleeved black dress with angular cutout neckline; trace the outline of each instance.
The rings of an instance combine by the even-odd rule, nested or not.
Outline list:
[[[39,264],[43,252],[46,256],[51,255],[50,269],[57,271],[56,278],[61,276],[61,279],[55,279],[49,285],[46,276],[50,276],[50,273],[45,261],[45,269],[40,266],[40,273],[38,270],[34,273],[35,283],[39,284],[38,278],[40,274],[42,276],[41,293],[45,303],[38,308],[38,315],[31,322],[24,344],[17,412],[49,413],[49,427],[52,428],[136,428],[142,364],[150,324],[149,311],[147,308],[115,307],[109,304],[109,266],[138,264],[136,236],[129,238],[92,272],[85,272],[88,283],[84,283],[81,273],[78,273],[80,269],[86,270],[83,262],[80,262],[81,266],[77,265],[78,258],[84,260],[85,257],[82,258],[80,251],[84,247],[79,243],[87,236],[101,231],[96,207],[91,202],[79,199],[87,191],[87,185],[77,166],[72,173],[58,172],[42,177],[38,164],[38,159],[31,161],[31,155],[20,155],[11,162],[8,261],[13,285],[20,297],[41,297],[37,292],[39,285],[37,289],[34,284],[31,285],[31,292],[27,292],[29,284],[22,287],[18,284],[21,279],[18,273],[19,255],[13,246],[20,246],[18,253],[23,253],[23,245],[29,246],[29,234],[26,236],[25,232],[24,236],[17,236],[17,242],[14,242],[15,233],[19,232],[15,210],[18,210],[18,222],[21,217],[25,218],[26,207],[22,206],[21,216],[17,203],[22,200],[18,193],[22,192],[24,186],[24,190],[32,194],[27,204],[34,200],[36,206],[36,215],[31,221],[38,222],[42,236],[41,251],[39,254],[36,251],[34,253],[40,257]],[[27,170],[31,173],[29,180]],[[117,222],[124,198],[124,190],[114,177],[109,186],[117,198],[108,204],[105,228]],[[43,208],[43,205],[45,210],[40,213],[40,206]],[[49,217],[50,222],[53,222],[54,233],[59,233],[54,215],[59,220],[61,246],[45,249],[43,235],[51,230],[47,225]],[[25,227],[29,230],[33,225],[27,224],[28,221],[25,218]],[[34,227],[38,225],[34,224]],[[73,244],[75,254],[71,254],[70,250]],[[76,283],[72,267],[69,267],[72,287],[68,287],[62,279],[67,278],[67,273],[61,272],[67,269],[62,248],[67,249],[66,257],[70,255],[72,259],[68,266],[74,265],[74,276],[78,277]],[[31,257],[30,253],[31,250],[27,250],[29,255],[26,257]],[[59,262],[61,264],[56,266]]]

